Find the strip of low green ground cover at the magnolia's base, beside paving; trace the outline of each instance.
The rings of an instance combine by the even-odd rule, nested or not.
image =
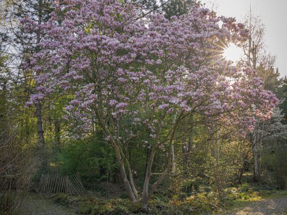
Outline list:
[[[287,196],[287,191],[268,190],[260,185],[245,183],[239,187],[225,189],[221,197],[212,191],[198,190],[189,197],[185,194],[167,198],[157,193],[147,204],[132,203],[125,198],[104,200],[97,197],[70,197],[64,194],[54,196],[53,201],[72,207],[79,214],[213,214],[261,199]]]

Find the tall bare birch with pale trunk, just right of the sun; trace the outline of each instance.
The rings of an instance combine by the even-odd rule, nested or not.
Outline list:
[[[259,16],[256,16],[250,9],[250,12],[244,18],[245,27],[249,30],[248,40],[242,42],[244,58],[239,64],[251,67],[256,74],[262,78],[263,88],[276,92],[277,87],[281,84],[282,79],[278,69],[274,69],[276,57],[266,51],[265,45],[265,25]],[[256,109],[256,107],[254,107]],[[259,130],[263,129],[264,123],[256,121],[255,129],[252,134],[252,149],[254,162],[254,181],[260,179],[261,152],[262,152],[262,135]]]

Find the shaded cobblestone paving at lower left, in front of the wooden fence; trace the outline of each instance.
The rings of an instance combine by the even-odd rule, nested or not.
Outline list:
[[[47,197],[39,196],[36,193],[29,193],[29,196],[24,199],[21,215],[72,215],[76,214],[69,208],[55,205]]]

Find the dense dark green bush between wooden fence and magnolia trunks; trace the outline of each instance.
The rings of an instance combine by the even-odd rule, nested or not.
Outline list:
[[[89,185],[100,180],[113,180],[117,164],[112,148],[95,140],[70,140],[56,155],[55,164],[64,175],[79,173]]]

